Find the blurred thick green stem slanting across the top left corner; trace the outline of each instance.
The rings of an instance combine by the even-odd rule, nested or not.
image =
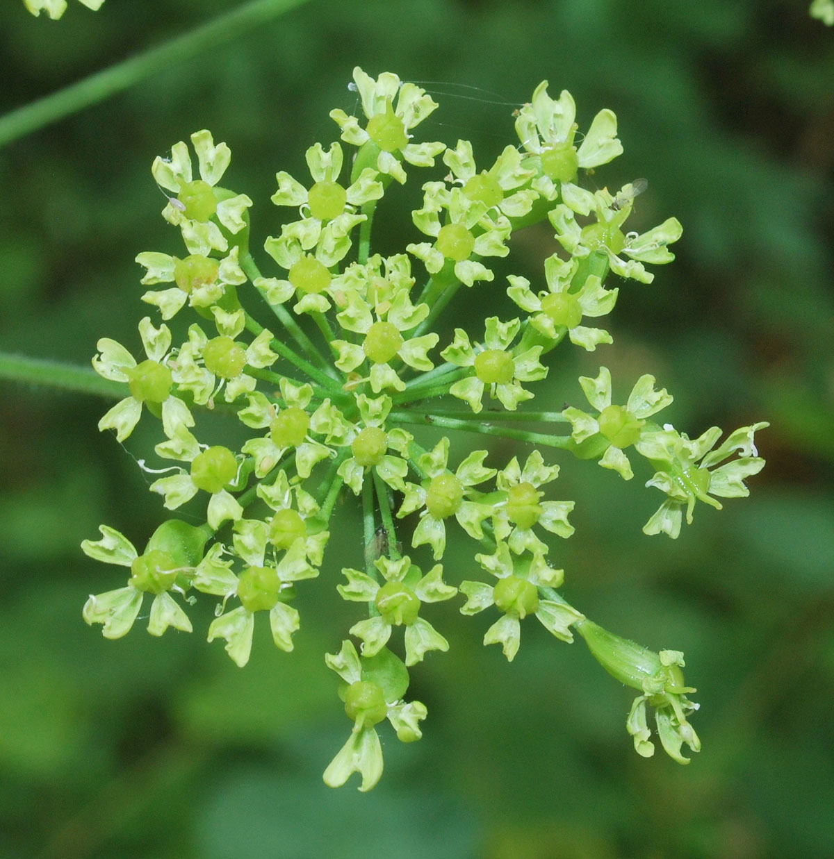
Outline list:
[[[210,48],[240,40],[248,30],[260,27],[304,2],[305,0],[254,0],[252,3],[244,3],[202,27],[194,27],[163,45],[149,48],[137,57],[126,59],[109,69],[84,78],[83,81],[60,89],[57,93],[18,107],[0,118],[0,146],[25,137],[39,128],[57,122],[58,119],[71,116],[85,107],[98,104],[110,95],[130,88],[156,72],[169,69]]]

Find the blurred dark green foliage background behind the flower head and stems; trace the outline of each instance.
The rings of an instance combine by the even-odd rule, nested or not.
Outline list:
[[[236,5],[109,0],[93,14],[71,0],[56,23],[3,3],[0,110]],[[304,149],[336,137],[328,110],[353,109],[355,64],[426,82],[441,108],[423,135],[468,137],[481,161],[547,78],[573,93],[581,128],[617,114],[625,155],[589,182],[647,177],[635,228],[674,215],[684,238],[652,286],[624,284],[615,345],[555,353],[542,407],[579,402],[576,376],[605,362],[622,393],[656,375],[690,434],[771,423],[751,498],[697,509],[677,541],[641,534],[660,501],[647,473],[624,484],[565,460],[552,496],[577,500],[577,533],[553,548],[567,598],[685,651],[702,704],[689,767],[637,757],[633,693],[581,642],[524,624],[510,666],[481,647],[489,618],[464,620],[456,601],[432,617],[450,654],[414,671],[424,739],[383,738],[383,780],[360,795],[321,780],[350,728],[322,660],[348,623],[333,588],[302,588],[292,655],[260,629],[244,670],[205,643],[205,606],[193,636],[140,623],[105,641],[81,606],[121,574],[78,544],[106,522],[143,545],[160,521],[135,461],[152,424],[123,448],[95,429],[103,401],[2,383],[0,855],[834,855],[834,32],[806,13],[801,0],[310,0],[0,150],[0,349],[89,366],[97,338],[138,346],[135,255],[179,253],[150,178],[175,141],[207,127],[230,144],[257,248],[279,228],[275,172],[306,176]],[[414,241],[422,179],[378,218],[383,252]],[[546,228],[512,244],[528,276],[552,253]],[[462,314],[482,313],[480,289]],[[493,464],[516,452],[490,449]],[[359,563],[350,507],[357,536],[332,540],[322,580]],[[471,575],[471,551],[452,546],[452,580]]]

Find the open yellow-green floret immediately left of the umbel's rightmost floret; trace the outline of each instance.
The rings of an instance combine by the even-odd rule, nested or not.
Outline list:
[[[624,480],[633,478],[631,463],[623,453],[638,442],[647,429],[646,418],[665,409],[671,395],[665,388],[654,390],[654,376],[642,375],[631,389],[626,405],[611,405],[611,374],[607,367],[599,368],[596,379],[580,376],[580,385],[588,402],[599,412],[592,417],[573,406],[562,414],[573,427],[571,438],[578,446],[581,458],[600,457],[599,465],[617,472]]]

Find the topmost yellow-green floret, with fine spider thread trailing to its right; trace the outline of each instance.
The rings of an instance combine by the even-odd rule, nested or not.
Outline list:
[[[435,157],[446,148],[445,143],[409,143],[408,131],[420,125],[438,107],[437,102],[425,90],[414,83],[401,83],[390,72],[384,72],[375,81],[357,66],[353,80],[352,88],[359,92],[368,119],[365,128],[359,125],[359,119],[340,109],[330,111],[330,118],[339,125],[342,140],[365,147],[366,154],[360,151],[357,161],[367,161],[379,173],[392,176],[401,184],[406,180],[401,160],[414,167],[433,167]]]

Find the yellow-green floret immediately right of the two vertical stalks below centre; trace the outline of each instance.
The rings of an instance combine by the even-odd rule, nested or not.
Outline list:
[[[470,537],[481,539],[483,529],[481,523],[491,513],[489,504],[470,501],[470,498],[480,498],[480,493],[473,489],[477,484],[495,476],[494,468],[485,468],[483,460],[486,450],[475,450],[457,466],[453,474],[446,467],[449,461],[449,439],[445,436],[427,454],[420,456],[418,466],[425,472],[426,480],[422,486],[405,484],[397,518],[420,510],[420,522],[414,528],[411,545],[428,544],[432,547],[434,559],[443,557],[446,547],[445,520],[454,516],[457,523]]]

